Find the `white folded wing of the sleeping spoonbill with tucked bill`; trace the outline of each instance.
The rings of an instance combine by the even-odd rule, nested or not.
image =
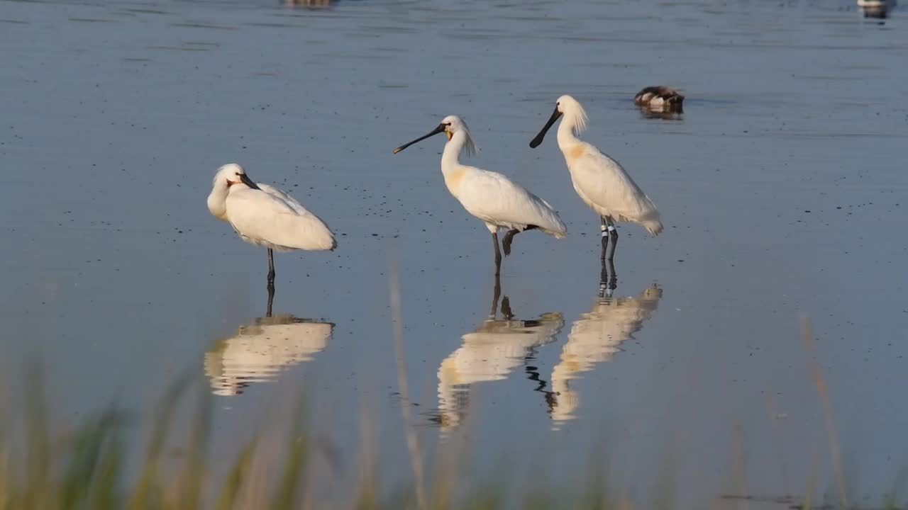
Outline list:
[[[228,220],[245,240],[274,250],[333,250],[337,246],[318,216],[282,191],[267,184],[259,187],[262,190],[241,190],[227,197]]]

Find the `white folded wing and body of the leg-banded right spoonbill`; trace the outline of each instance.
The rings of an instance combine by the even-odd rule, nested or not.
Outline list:
[[[661,232],[662,221],[656,205],[625,169],[592,145],[585,144],[584,149],[568,162],[580,198],[603,216],[639,223],[653,235]]]

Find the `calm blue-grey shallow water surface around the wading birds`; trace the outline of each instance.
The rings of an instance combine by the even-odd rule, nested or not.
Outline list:
[[[903,10],[277,4],[0,1],[0,353],[43,354],[63,417],[147,408],[188,369],[216,395],[214,451],[303,390],[344,456],[366,409],[383,470],[406,476],[393,262],[414,425],[429,443],[469,427],[481,468],[515,457],[569,485],[605,445],[631,494],[666,466],[688,501],[744,491],[733,465],[748,494],[800,494],[812,466],[832,485],[815,358],[856,490],[892,488],[908,464]],[[685,91],[680,119],[636,109],[653,84]],[[598,220],[555,137],[528,148],[561,93],[666,224],[621,225],[601,286]],[[391,153],[446,114],[469,122],[472,164],[568,224],[518,236],[499,282],[488,231],[444,187],[442,139]],[[271,318],[265,251],[205,208],[225,162],[338,234],[334,252],[276,256]]]

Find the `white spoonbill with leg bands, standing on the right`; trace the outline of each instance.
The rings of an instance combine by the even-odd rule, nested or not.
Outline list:
[[[577,138],[576,134],[587,126],[587,113],[573,97],[562,95],[558,98],[555,112],[536,138],[529,142],[529,146],[538,147],[548,128],[562,115],[564,120],[558,126],[558,148],[568,162],[574,190],[599,214],[602,221],[602,258],[606,258],[608,237],[611,236],[612,250],[608,254],[608,260],[613,260],[618,243],[615,220],[638,223],[655,236],[662,231],[659,211],[656,211],[653,201],[649,200],[617,161],[600,152],[591,143]]]

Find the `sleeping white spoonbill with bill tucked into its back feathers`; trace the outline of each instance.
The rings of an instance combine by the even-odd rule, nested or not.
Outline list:
[[[274,289],[273,250],[334,250],[324,221],[287,193],[252,181],[242,166],[223,165],[214,174],[208,211],[227,221],[242,240],[268,249],[268,288]]]

